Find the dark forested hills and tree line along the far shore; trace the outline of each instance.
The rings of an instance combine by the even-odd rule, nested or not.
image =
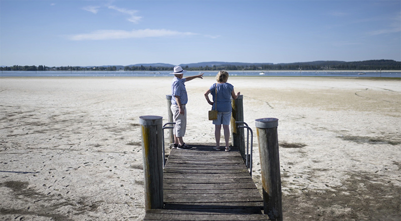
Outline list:
[[[367,60],[367,61],[312,61],[297,63],[241,63],[241,62],[200,62],[180,64],[185,70],[397,70],[401,71],[401,61]],[[0,67],[5,71],[44,71],[44,70],[126,70],[126,71],[170,71],[175,65],[165,63],[105,65],[105,66],[62,66],[48,67],[45,65]]]

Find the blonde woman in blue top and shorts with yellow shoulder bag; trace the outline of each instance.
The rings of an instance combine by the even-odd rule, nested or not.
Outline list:
[[[217,109],[217,120],[213,120],[215,125],[216,147],[213,149],[220,150],[220,131],[223,125],[224,139],[226,140],[226,151],[230,151],[230,120],[231,120],[231,97],[237,99],[240,92],[234,92],[234,86],[227,83],[229,73],[227,71],[219,71],[216,76],[217,83],[213,84],[205,93],[205,98],[213,109]],[[217,92],[217,95],[216,95]],[[213,102],[209,99],[209,94],[213,96]],[[217,104],[217,106],[216,106]]]

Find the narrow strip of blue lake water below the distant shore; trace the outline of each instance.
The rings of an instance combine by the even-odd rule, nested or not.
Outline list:
[[[188,71],[186,76],[218,71]],[[230,76],[401,77],[401,71],[228,71]],[[171,77],[170,71],[1,71],[0,77]]]

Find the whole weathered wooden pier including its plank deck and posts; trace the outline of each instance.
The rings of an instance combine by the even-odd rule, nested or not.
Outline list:
[[[167,124],[173,124],[171,95],[166,99]],[[252,130],[243,122],[242,99],[240,95],[232,100],[234,147],[230,152],[224,148],[215,151],[213,144],[192,144],[191,150],[172,149],[164,168],[163,130],[169,127],[162,126],[160,116],[139,117],[146,209],[143,220],[283,220],[278,119],[255,120],[262,198],[247,168],[252,165]],[[251,130],[251,154],[248,145],[245,149],[244,128]],[[171,130],[169,137],[173,143]]]

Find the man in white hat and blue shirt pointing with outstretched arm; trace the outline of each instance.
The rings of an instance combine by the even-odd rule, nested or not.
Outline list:
[[[186,108],[185,105],[188,102],[188,95],[186,94],[185,82],[190,81],[195,78],[203,79],[203,75],[195,75],[182,78],[186,70],[182,70],[181,66],[175,66],[174,78],[171,82],[171,112],[173,116],[173,121],[175,122],[173,134],[174,134],[174,146],[177,149],[191,149],[188,147],[182,139],[185,135],[186,130]]]

